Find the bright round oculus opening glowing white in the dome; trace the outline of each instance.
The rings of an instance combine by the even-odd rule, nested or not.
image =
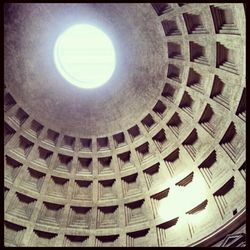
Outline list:
[[[80,88],[97,88],[107,83],[115,70],[115,49],[100,29],[77,24],[58,37],[54,61],[69,83]]]

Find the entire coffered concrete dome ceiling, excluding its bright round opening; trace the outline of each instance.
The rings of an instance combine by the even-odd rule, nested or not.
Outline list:
[[[56,67],[76,24],[113,43],[98,88]],[[211,246],[244,228],[245,61],[241,3],[5,4],[5,245]]]

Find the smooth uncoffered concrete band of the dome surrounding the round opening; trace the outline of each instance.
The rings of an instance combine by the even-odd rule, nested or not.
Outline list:
[[[115,74],[98,90],[68,85],[54,65],[57,37],[78,23],[102,28],[117,51]],[[166,79],[164,36],[150,4],[21,4],[7,8],[5,32],[6,85],[38,121],[68,134],[105,135],[134,125]]]

